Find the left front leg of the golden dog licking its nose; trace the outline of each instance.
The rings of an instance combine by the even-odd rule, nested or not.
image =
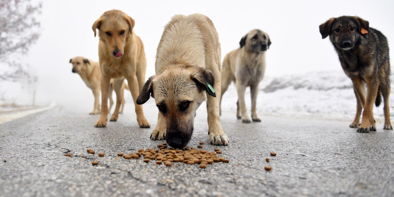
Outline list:
[[[110,78],[101,77],[101,113],[95,127],[106,127],[108,119],[108,91],[110,91]]]

